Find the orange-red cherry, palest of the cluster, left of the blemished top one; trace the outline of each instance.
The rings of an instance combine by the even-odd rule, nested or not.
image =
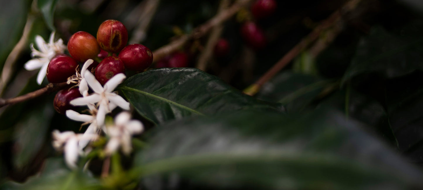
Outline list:
[[[79,31],[71,36],[68,42],[68,50],[69,54],[79,62],[93,59],[100,53],[96,38],[84,31]]]

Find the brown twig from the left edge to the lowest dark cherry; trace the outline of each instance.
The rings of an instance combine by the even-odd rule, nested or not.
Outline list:
[[[38,96],[44,95],[44,94],[48,94],[50,92],[55,92],[58,90],[62,90],[65,87],[69,87],[72,84],[67,84],[66,82],[62,82],[62,83],[49,83],[47,84],[46,87],[38,89],[34,92],[29,92],[25,95],[21,95],[15,98],[9,98],[9,99],[2,99],[0,98],[0,108],[5,106],[5,105],[9,105],[9,104],[14,104],[14,103],[19,103],[19,102],[23,102],[26,100],[30,100],[33,98],[37,98]]]

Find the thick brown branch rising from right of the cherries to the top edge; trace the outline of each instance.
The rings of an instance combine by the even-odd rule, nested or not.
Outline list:
[[[161,48],[153,52],[153,62],[161,60],[166,55],[176,51],[179,47],[183,46],[187,41],[191,39],[198,39],[206,35],[214,26],[222,23],[223,21],[231,18],[236,12],[238,12],[243,6],[247,5],[251,0],[239,0],[234,3],[231,7],[215,15],[206,23],[195,28],[191,34],[182,35],[176,41],[169,43],[168,45],[162,46]]]

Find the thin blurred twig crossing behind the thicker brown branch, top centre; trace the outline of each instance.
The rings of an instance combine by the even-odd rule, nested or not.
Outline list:
[[[229,6],[229,0],[220,0],[219,8],[217,14],[225,11]],[[204,46],[203,52],[201,52],[200,57],[198,58],[196,68],[206,71],[207,62],[209,61],[211,54],[213,53],[214,46],[216,45],[217,40],[219,40],[220,35],[222,34],[223,26],[218,24],[213,27],[210,32],[209,39],[207,40],[206,46]]]

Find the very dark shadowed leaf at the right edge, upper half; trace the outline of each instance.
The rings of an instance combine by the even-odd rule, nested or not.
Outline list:
[[[374,27],[370,35],[360,40],[343,83],[364,73],[381,73],[393,78],[423,70],[423,30],[420,29],[420,26],[413,25],[401,31],[404,34],[400,36],[388,33],[382,27]]]

